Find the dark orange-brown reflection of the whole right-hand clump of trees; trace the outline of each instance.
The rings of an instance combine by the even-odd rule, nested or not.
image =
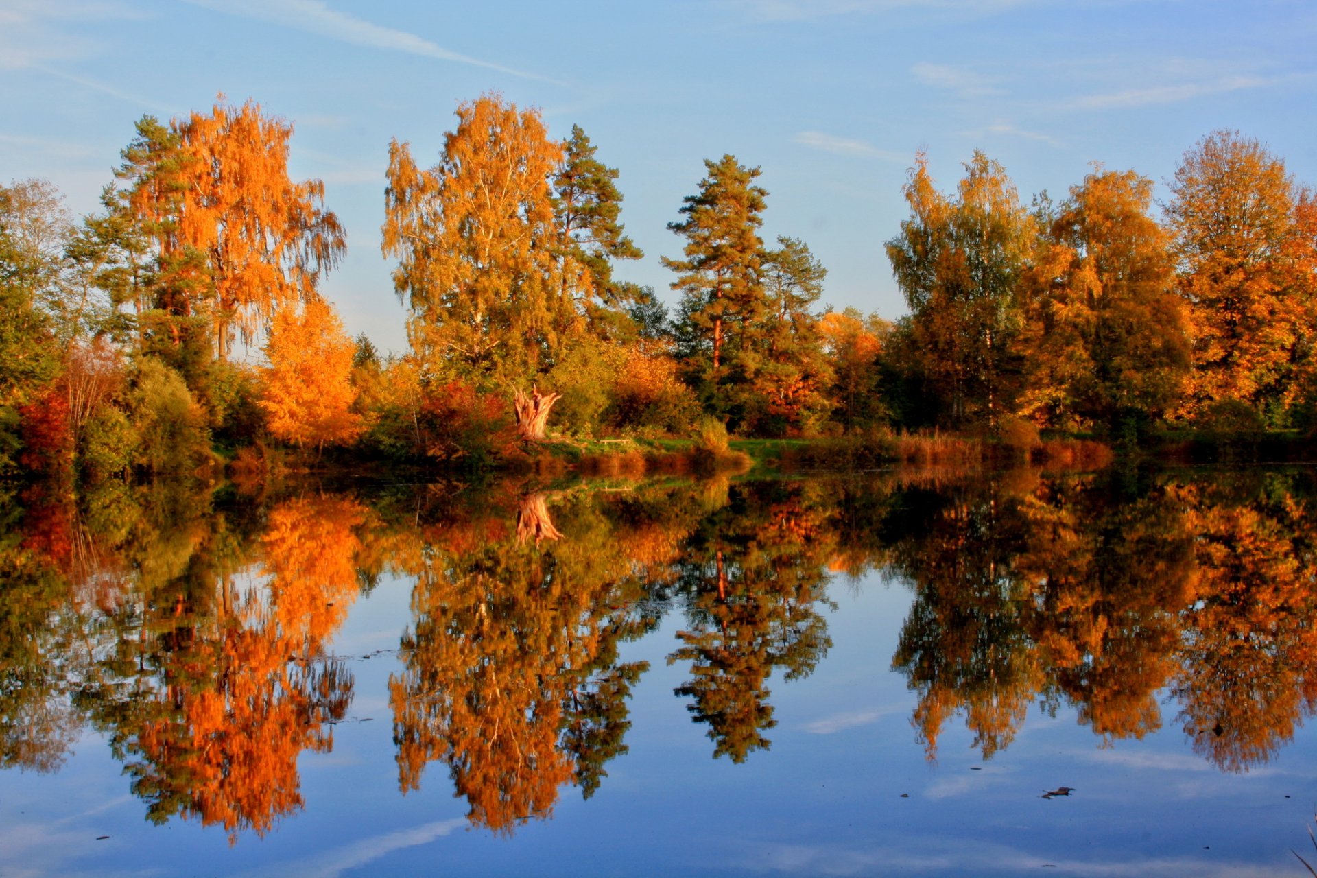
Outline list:
[[[1039,695],[1108,741],[1142,737],[1169,684],[1195,750],[1242,770],[1313,712],[1317,546],[1300,486],[1118,480],[903,492],[885,529],[917,596],[893,665],[919,692],[930,754],[963,710],[990,756]]]

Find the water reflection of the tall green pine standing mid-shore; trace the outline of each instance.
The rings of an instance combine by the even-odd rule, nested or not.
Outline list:
[[[734,762],[770,745],[763,732],[776,724],[765,686],[773,669],[806,677],[831,646],[814,609],[831,555],[822,512],[799,496],[749,498],[751,490],[701,523],[678,563],[690,628],[668,657],[691,663],[676,694],[691,698],[693,719],[709,724],[714,756]]]

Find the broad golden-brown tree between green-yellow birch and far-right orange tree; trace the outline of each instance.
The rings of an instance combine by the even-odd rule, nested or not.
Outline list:
[[[1101,167],[1071,187],[1023,291],[1023,411],[1052,426],[1160,416],[1188,376],[1188,321],[1152,180]]]

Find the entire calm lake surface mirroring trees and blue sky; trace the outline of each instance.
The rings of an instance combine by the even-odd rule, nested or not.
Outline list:
[[[0,875],[1306,874],[1314,486],[29,488]]]

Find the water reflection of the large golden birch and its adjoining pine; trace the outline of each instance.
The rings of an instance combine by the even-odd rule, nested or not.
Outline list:
[[[407,669],[390,681],[402,788],[443,761],[471,823],[495,831],[547,816],[568,781],[589,795],[626,752],[624,702],[644,665],[619,662],[618,645],[655,623],[627,528],[583,498],[558,517],[543,546],[487,519],[436,528]]]

